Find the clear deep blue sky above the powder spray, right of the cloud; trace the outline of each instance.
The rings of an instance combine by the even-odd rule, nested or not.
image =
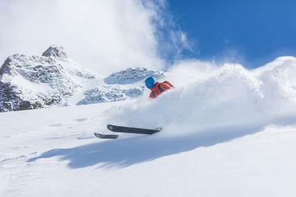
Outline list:
[[[296,56],[296,1],[168,0],[193,51],[183,57],[232,61],[249,68]]]

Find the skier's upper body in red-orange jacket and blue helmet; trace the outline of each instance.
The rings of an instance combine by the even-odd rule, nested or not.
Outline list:
[[[158,97],[158,95],[160,95],[161,93],[163,93],[164,91],[169,90],[170,88],[173,88],[174,86],[165,81],[165,82],[156,82],[154,77],[148,77],[145,80],[145,85],[147,88],[149,88],[151,90],[151,93],[149,95],[149,98],[153,99]]]

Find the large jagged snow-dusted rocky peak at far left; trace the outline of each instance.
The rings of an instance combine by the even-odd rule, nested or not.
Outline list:
[[[12,55],[0,67],[0,111],[59,104],[93,78],[68,59],[62,46],[50,46],[42,56]]]

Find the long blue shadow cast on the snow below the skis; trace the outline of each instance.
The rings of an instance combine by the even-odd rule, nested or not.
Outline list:
[[[149,136],[123,138],[95,142],[70,149],[52,149],[36,158],[59,156],[60,160],[69,160],[68,166],[77,169],[98,165],[99,167],[129,167],[140,162],[155,160],[198,147],[210,147],[234,138],[261,131],[263,126],[228,126],[208,129],[185,135],[168,136],[166,132]]]

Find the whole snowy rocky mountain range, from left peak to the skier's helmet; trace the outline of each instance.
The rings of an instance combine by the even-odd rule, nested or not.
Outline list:
[[[103,78],[82,69],[62,46],[50,46],[42,56],[12,55],[0,68],[0,112],[133,99],[151,75],[164,73],[127,68]]]

